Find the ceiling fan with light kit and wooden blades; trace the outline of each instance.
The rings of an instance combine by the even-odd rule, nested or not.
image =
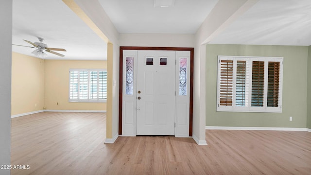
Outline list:
[[[55,54],[55,55],[62,56],[62,57],[65,56],[65,55],[63,55],[63,54],[54,52],[54,51],[64,51],[64,52],[66,52],[65,49],[50,48],[50,47],[48,47],[48,45],[42,43],[42,41],[44,40],[42,37],[38,37],[38,39],[39,39],[40,42],[35,42],[35,43],[23,39],[24,41],[28,42],[29,44],[31,44],[31,45],[33,45],[33,46],[23,46],[23,45],[17,45],[17,44],[12,44],[12,45],[14,45],[14,46],[23,46],[23,47],[36,48],[36,50],[33,51],[32,53],[35,54],[35,56],[38,56],[38,57],[41,57],[41,58],[44,58],[44,57],[47,57],[47,56],[48,56],[48,55],[47,55],[46,53],[44,53],[43,51],[48,52],[48,53],[53,53],[53,54]]]

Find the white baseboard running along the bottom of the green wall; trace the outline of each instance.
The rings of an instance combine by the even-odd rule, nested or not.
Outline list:
[[[229,126],[206,126],[205,129],[214,130],[262,130],[262,131],[307,131],[307,128],[288,127],[229,127]]]

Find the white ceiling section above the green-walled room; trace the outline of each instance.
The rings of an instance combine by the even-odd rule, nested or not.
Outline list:
[[[311,0],[259,0],[210,43],[311,45]]]

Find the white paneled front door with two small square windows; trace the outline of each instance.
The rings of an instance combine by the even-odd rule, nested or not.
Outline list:
[[[175,134],[175,51],[138,51],[137,135]]]

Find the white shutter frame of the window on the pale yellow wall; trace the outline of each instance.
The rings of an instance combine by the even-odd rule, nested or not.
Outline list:
[[[78,71],[78,82],[80,81],[79,80],[80,71],[87,71],[88,72],[88,76],[87,76],[88,77],[87,78],[87,99],[79,99],[79,87],[78,87],[78,99],[70,99],[71,98],[71,94],[70,94],[71,71]],[[69,89],[69,93],[68,93],[68,95],[69,95],[69,98],[68,98],[69,102],[78,102],[78,103],[106,103],[107,102],[107,94],[106,94],[106,99],[104,99],[104,100],[98,99],[99,89],[97,91],[97,99],[91,99],[91,97],[90,97],[91,72],[94,72],[94,71],[96,71],[98,75],[99,75],[100,71],[104,71],[107,74],[107,70],[106,69],[69,69],[69,88],[68,88]],[[99,80],[99,76],[97,77],[97,80]],[[105,85],[106,86],[106,90],[105,91],[107,93],[107,78],[106,78],[105,81],[106,81],[106,85]],[[79,84],[78,84],[78,86],[79,86]],[[99,81],[97,81],[97,87],[99,88]]]

